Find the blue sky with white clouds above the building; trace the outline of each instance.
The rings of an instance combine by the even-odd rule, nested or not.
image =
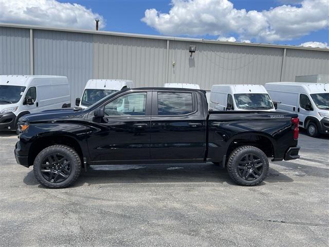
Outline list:
[[[0,2],[2,23],[94,29],[96,18],[102,30],[117,32],[289,45],[313,42],[323,47],[329,43],[329,0]]]

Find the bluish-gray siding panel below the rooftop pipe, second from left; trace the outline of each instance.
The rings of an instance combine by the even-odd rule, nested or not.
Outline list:
[[[67,76],[71,104],[93,78],[93,34],[33,30],[34,74]]]

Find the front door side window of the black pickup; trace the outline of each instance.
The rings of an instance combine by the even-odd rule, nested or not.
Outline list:
[[[144,116],[147,93],[131,93],[105,105],[105,116]]]

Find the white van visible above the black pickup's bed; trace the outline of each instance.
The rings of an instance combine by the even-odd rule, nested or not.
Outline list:
[[[275,111],[263,85],[213,85],[209,109],[214,111]]]

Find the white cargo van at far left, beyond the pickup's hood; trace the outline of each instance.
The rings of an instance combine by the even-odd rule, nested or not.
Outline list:
[[[70,92],[64,76],[0,76],[0,130],[15,130],[23,115],[66,107]]]

